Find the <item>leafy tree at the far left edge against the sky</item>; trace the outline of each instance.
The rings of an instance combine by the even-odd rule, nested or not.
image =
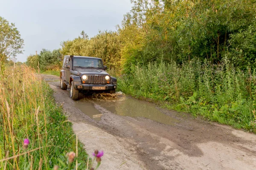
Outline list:
[[[11,60],[22,53],[23,43],[15,24],[0,17],[0,73],[7,59]]]

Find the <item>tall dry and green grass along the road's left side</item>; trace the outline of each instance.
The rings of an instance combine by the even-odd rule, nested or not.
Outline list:
[[[0,75],[0,102],[0,169],[64,167],[66,153],[76,150],[78,169],[86,169],[87,154],[77,145],[71,123],[34,70],[20,66],[4,71]],[[30,141],[27,149],[23,148],[26,138]]]

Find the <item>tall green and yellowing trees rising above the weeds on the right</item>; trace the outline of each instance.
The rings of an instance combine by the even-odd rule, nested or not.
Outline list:
[[[252,0],[132,2],[131,12],[125,15],[119,27],[126,73],[131,63],[147,65],[152,61],[174,60],[181,64],[192,58],[219,63],[228,54],[233,34],[244,29],[255,33],[250,28],[256,20]],[[248,48],[253,43],[253,34],[244,37],[248,39],[243,47],[244,54],[250,53]],[[254,56],[250,55],[255,59]],[[254,62],[246,59],[248,56],[243,57]]]

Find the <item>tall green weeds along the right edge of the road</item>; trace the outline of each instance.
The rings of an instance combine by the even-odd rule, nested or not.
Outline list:
[[[192,60],[131,66],[131,74],[118,78],[126,94],[167,101],[170,109],[204,116],[256,133],[256,72],[233,68],[227,59],[220,65]]]

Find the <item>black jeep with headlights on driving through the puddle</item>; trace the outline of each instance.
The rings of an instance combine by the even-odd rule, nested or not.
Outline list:
[[[70,97],[78,99],[79,91],[116,92],[116,78],[105,70],[102,59],[84,56],[64,56],[61,70],[61,89],[70,86]]]

